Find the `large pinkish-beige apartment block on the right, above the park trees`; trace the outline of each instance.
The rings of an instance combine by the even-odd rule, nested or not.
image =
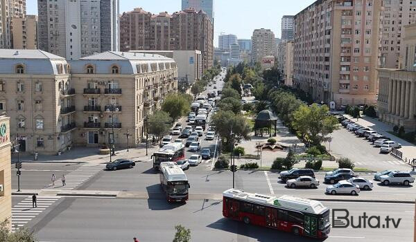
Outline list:
[[[317,102],[374,104],[381,1],[320,0],[295,15],[293,82]]]

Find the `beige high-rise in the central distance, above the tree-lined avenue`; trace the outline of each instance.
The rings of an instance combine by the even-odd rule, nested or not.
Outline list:
[[[262,57],[275,55],[275,34],[269,29],[256,29],[252,35],[253,62],[261,62]]]

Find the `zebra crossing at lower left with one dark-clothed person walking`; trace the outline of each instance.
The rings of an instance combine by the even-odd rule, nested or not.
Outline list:
[[[60,196],[37,196],[37,207],[33,207],[32,196],[27,196],[12,207],[12,232],[23,227],[60,199]]]

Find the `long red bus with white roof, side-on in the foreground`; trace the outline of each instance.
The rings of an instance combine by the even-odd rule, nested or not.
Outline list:
[[[327,238],[331,230],[329,208],[319,201],[288,195],[278,198],[228,189],[223,192],[223,216],[319,239]]]

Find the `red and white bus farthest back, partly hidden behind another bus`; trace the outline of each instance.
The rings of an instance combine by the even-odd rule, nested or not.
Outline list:
[[[185,146],[181,143],[164,145],[159,151],[155,151],[151,158],[153,158],[153,168],[159,169],[160,162],[183,160],[185,158]]]

